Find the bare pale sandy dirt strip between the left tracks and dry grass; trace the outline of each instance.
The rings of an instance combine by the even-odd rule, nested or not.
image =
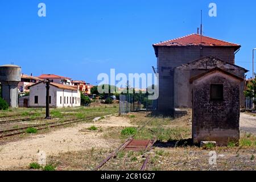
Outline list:
[[[10,142],[0,146],[0,169],[27,168],[31,162],[37,162],[39,151],[45,152],[48,156],[62,152],[86,150],[92,147],[110,148],[117,146],[119,140],[105,140],[102,139],[100,132],[84,131],[92,125],[102,129],[114,126],[132,126],[127,118],[111,116],[94,123],[81,123],[74,127]]]

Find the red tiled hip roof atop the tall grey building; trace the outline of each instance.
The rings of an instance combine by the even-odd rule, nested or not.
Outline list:
[[[232,46],[232,47],[241,47],[239,44],[225,42],[223,40],[209,38],[208,36],[203,36],[203,35],[201,36],[199,34],[191,34],[191,35],[183,36],[181,38],[167,40],[165,42],[153,44],[153,46],[154,47],[157,47],[157,46]]]

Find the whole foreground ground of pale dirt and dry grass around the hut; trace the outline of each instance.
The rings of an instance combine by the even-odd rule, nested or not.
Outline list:
[[[253,138],[251,135],[246,135],[242,140],[244,144],[240,147],[210,149],[216,150],[218,165],[209,166],[210,150],[202,150],[194,146],[186,147],[182,143],[175,143],[172,146],[175,140],[170,142],[170,139],[182,141],[191,137],[191,115],[179,119],[147,118],[144,113],[134,113],[125,117],[105,117],[95,122],[79,123],[72,127],[52,130],[46,134],[31,135],[28,138],[2,144],[0,145],[0,169],[28,169],[30,163],[38,161],[39,151],[49,156],[47,160],[57,163],[58,170],[93,169],[122,143],[120,131],[123,127],[142,126],[148,119],[151,120],[150,123],[137,134],[137,138],[152,138],[155,136],[154,133],[158,133],[156,137],[159,142],[150,152],[147,170],[256,169],[254,160],[256,142],[246,144]],[[91,126],[97,127],[98,130],[88,130]],[[256,117],[241,113],[240,126],[243,135],[256,134]],[[121,151],[117,158],[110,160],[102,169],[139,170],[143,161],[141,152]]]

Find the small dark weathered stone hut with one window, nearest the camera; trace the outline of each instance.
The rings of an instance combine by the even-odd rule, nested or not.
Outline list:
[[[217,67],[190,79],[194,143],[239,141],[241,82],[243,77]]]

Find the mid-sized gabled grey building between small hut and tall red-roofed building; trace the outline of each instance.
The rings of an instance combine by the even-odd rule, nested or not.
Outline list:
[[[224,60],[218,59],[214,56],[205,56],[197,60],[193,60],[187,64],[182,64],[174,69],[174,106],[175,108],[192,107],[191,93],[192,88],[189,84],[189,79],[200,73],[204,73],[209,69],[215,67],[225,69],[234,75],[241,78],[244,77],[247,72],[246,69],[237,65],[228,63]],[[245,97],[243,95],[245,90],[245,82],[240,84],[240,106],[243,107],[245,104]]]

